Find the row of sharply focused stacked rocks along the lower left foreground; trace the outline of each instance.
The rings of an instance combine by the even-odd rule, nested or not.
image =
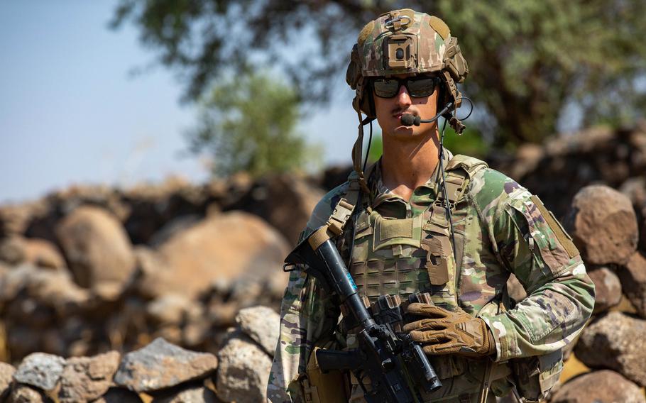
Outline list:
[[[62,358],[32,353],[17,368],[0,363],[1,402],[263,402],[278,342],[278,314],[243,309],[216,357],[163,338],[121,356]]]

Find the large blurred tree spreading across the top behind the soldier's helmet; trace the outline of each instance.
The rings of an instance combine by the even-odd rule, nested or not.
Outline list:
[[[363,23],[401,6],[387,0],[121,0],[113,26],[132,20],[163,64],[187,74],[196,99],[228,69],[259,58],[290,75],[306,101],[329,99]],[[643,0],[409,1],[444,18],[471,75],[481,131],[498,144],[538,142],[566,106],[583,124],[643,116],[646,2]],[[302,38],[318,46],[291,53]],[[253,63],[250,63],[253,61]],[[641,84],[640,84],[641,83]]]

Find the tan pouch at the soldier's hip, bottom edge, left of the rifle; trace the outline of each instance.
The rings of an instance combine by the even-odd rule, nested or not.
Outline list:
[[[307,377],[302,380],[305,402],[307,403],[346,403],[348,397],[345,392],[344,375],[341,371],[322,372],[317,362],[316,352],[319,347],[314,347],[310,360],[307,362]]]

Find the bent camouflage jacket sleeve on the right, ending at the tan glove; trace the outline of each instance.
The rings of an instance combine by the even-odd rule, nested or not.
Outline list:
[[[493,248],[527,291],[513,309],[483,318],[497,361],[542,355],[578,336],[594,306],[594,285],[571,238],[540,199],[505,177],[486,216]]]

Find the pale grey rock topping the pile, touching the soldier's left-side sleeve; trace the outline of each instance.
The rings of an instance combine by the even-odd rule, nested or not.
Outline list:
[[[278,343],[280,315],[269,307],[241,309],[236,322],[247,336],[273,357]]]

